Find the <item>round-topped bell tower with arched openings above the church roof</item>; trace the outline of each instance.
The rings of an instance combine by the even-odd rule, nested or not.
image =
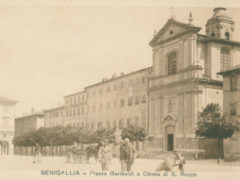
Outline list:
[[[226,8],[217,7],[213,9],[213,16],[207,21],[206,35],[225,40],[234,40],[234,21],[227,15]]]

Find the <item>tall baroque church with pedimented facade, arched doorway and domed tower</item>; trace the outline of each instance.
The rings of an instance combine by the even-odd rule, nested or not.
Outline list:
[[[198,112],[223,101],[217,73],[239,64],[240,42],[234,40],[234,20],[218,7],[200,27],[174,18],[150,41],[153,66],[149,77],[149,133],[152,148],[205,155],[216,154],[216,141],[196,137]]]

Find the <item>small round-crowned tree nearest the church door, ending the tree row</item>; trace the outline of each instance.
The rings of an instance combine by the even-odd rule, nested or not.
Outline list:
[[[145,141],[147,135],[147,131],[144,128],[130,125],[122,130],[121,136],[122,139],[128,138],[130,141],[135,141],[138,149],[138,143]]]

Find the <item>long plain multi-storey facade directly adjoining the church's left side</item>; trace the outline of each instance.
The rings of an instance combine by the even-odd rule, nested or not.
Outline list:
[[[130,124],[147,129],[148,75],[151,68],[86,87],[87,124],[91,129],[123,128]]]

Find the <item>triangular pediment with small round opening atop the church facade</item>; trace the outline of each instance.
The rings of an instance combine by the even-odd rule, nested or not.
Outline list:
[[[186,32],[199,32],[200,27],[196,27],[190,24],[185,24],[178,22],[174,19],[169,19],[162,29],[153,37],[150,42],[151,46],[158,44],[159,42],[164,42],[165,40],[177,37]]]

